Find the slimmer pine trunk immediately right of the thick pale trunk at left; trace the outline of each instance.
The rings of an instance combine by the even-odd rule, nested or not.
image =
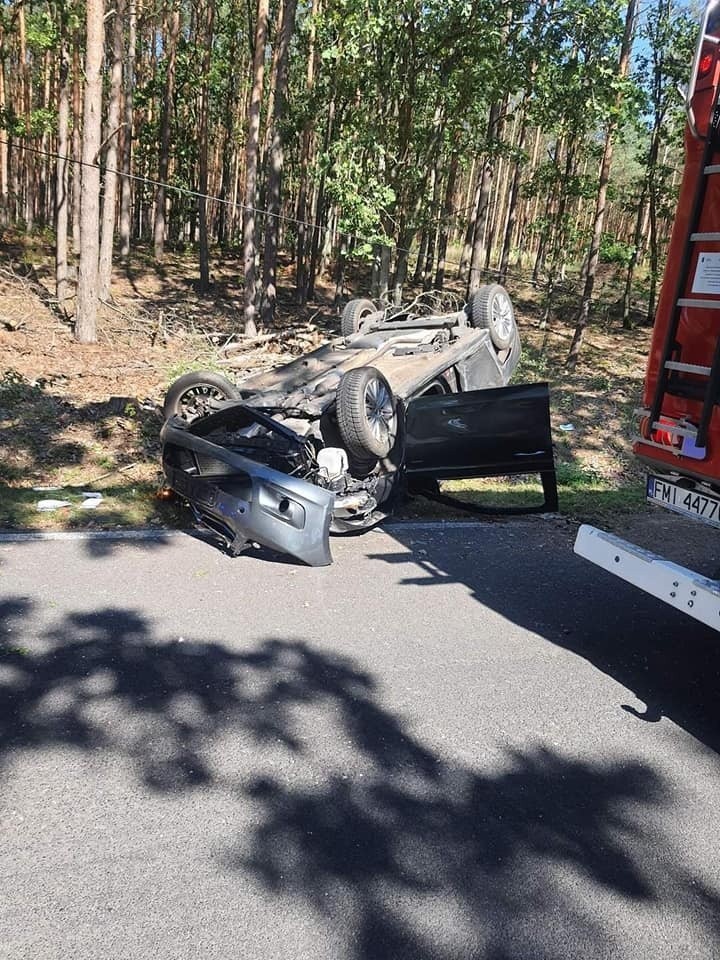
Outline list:
[[[123,27],[125,0],[116,0],[113,20],[113,60],[110,71],[110,99],[107,115],[107,149],[105,151],[105,183],[103,190],[102,233],[100,236],[100,259],[98,265],[98,296],[110,300],[112,280],[112,253],[115,238],[118,133],[120,130],[120,107],[122,99]]]

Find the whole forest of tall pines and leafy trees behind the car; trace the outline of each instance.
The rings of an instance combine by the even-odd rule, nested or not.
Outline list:
[[[0,18],[0,216],[52,238],[97,337],[112,271],[241,265],[238,329],[326,278],[341,302],[599,268],[652,323],[697,14],[677,0],[17,0]],[[573,356],[574,353],[574,356]]]

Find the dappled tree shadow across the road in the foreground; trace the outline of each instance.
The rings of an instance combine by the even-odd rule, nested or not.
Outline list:
[[[362,664],[305,642],[169,640],[131,609],[8,640],[31,616],[26,599],[0,604],[6,780],[13,760],[59,749],[127,765],[149,806],[229,794],[252,827],[208,823],[217,869],[283,910],[311,907],[338,956],[604,958],[616,932],[601,917],[621,904],[692,915],[698,937],[720,937],[716,892],[653,825],[670,796],[647,765],[536,746],[476,769],[416,736]],[[228,736],[251,744],[232,777]]]

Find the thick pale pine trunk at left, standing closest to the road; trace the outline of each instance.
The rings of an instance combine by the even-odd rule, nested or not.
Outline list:
[[[100,168],[102,130],[102,63],[104,0],[86,0],[85,103],[83,108],[83,168],[80,196],[80,270],[78,274],[75,339],[97,339]]]

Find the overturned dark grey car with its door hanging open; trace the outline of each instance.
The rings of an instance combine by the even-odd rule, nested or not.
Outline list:
[[[237,387],[181,377],[161,434],[169,485],[231,553],[257,542],[320,566],[329,534],[384,519],[408,478],[552,470],[547,390],[507,387],[520,340],[506,291],[450,306],[352,300],[342,337],[291,363]]]

